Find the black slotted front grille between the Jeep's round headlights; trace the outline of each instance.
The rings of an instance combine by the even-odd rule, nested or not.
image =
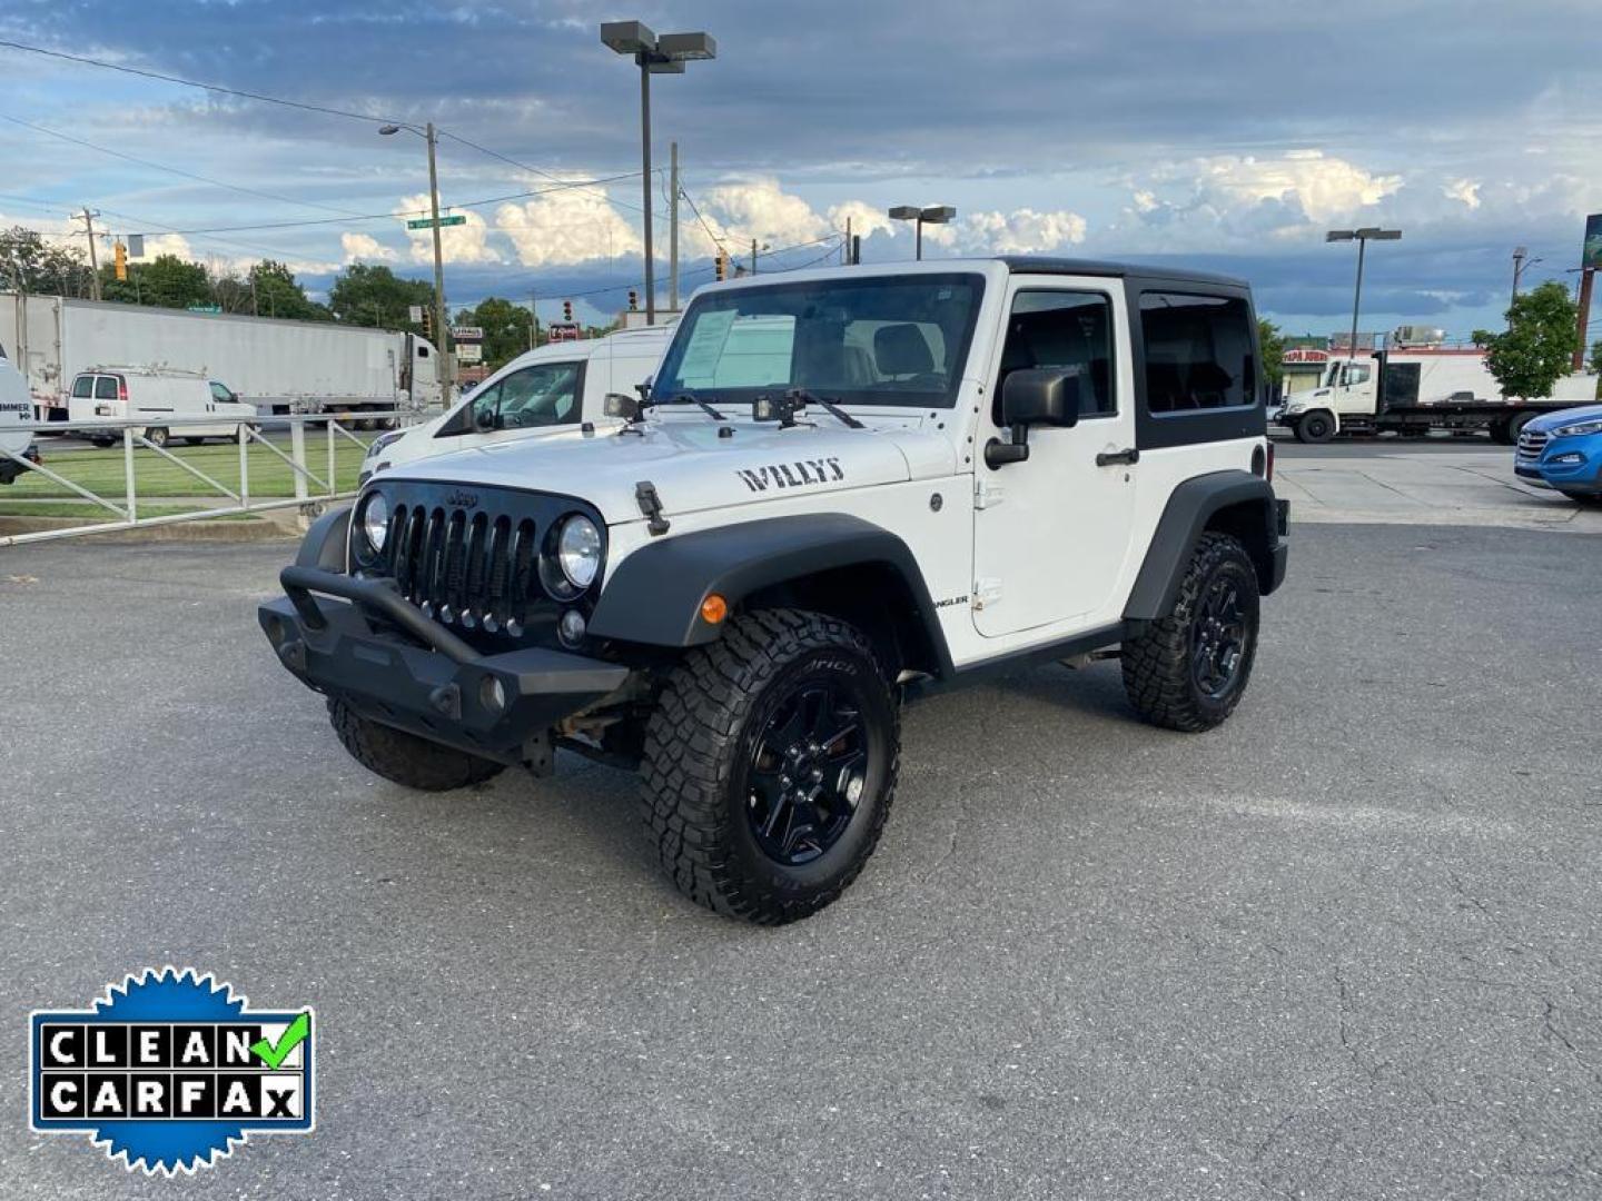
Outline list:
[[[545,602],[532,517],[396,504],[384,570],[428,617],[519,636]]]

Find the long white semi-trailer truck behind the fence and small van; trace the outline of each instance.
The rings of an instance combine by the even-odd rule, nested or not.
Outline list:
[[[72,381],[104,364],[226,380],[263,416],[441,407],[428,339],[357,325],[0,291],[0,347],[27,378],[40,421],[66,421]]]

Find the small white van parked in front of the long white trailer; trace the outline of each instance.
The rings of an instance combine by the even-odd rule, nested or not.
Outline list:
[[[136,426],[133,432],[157,447],[175,437],[199,445],[208,437],[244,437],[242,428],[255,424],[256,407],[240,400],[227,384],[203,375],[151,367],[96,367],[72,380],[67,416],[70,421],[144,418],[149,424]],[[122,431],[90,429],[85,436],[98,447],[109,447],[122,439]]]

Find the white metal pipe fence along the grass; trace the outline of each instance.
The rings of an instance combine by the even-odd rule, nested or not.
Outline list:
[[[0,546],[18,546],[21,543],[48,541],[51,538],[82,538],[91,533],[111,533],[115,530],[130,530],[149,525],[173,525],[178,522],[203,520],[207,517],[229,517],[234,514],[252,514],[266,512],[269,509],[290,509],[311,504],[324,504],[327,501],[343,500],[354,495],[352,488],[340,490],[338,480],[338,460],[340,460],[340,444],[352,442],[364,452],[370,445],[372,437],[360,439],[352,431],[351,426],[357,423],[372,424],[376,423],[380,428],[389,424],[391,420],[396,423],[409,420],[412,415],[402,410],[372,410],[362,413],[333,413],[333,415],[316,415],[316,416],[264,416],[260,423],[271,424],[276,429],[285,428],[288,431],[288,448],[279,445],[272,437],[261,431],[258,421],[242,421],[239,423],[232,440],[239,447],[239,487],[231,488],[215,476],[207,474],[192,461],[173,453],[165,445],[157,445],[151,442],[147,434],[149,418],[141,420],[111,420],[101,418],[96,421],[42,421],[24,426],[6,426],[8,431],[32,431],[34,434],[95,434],[96,437],[115,436],[122,439],[122,490],[114,495],[99,495],[91,488],[82,485],[77,480],[62,476],[61,471],[70,471],[67,461],[75,460],[78,455],[93,455],[104,461],[107,456],[106,450],[66,450],[59,455],[48,455],[48,442],[43,447],[46,453],[45,463],[34,463],[21,453],[6,450],[0,447],[0,461],[10,461],[21,466],[24,471],[18,474],[18,479],[26,479],[26,472],[37,472],[45,479],[54,482],[58,487],[66,488],[74,493],[78,500],[88,501],[101,509],[112,514],[112,520],[91,522],[88,525],[74,525],[69,528],[56,530],[37,530],[29,533],[13,533],[0,535]],[[184,429],[203,428],[215,431],[218,428],[218,420],[215,416],[163,416],[162,428],[167,429],[173,437],[186,437]],[[317,428],[317,429],[308,429]],[[320,434],[319,429],[325,428],[327,432]],[[215,434],[210,434],[215,437]],[[187,436],[194,437],[194,434]],[[325,447],[317,447],[314,444],[324,440]],[[282,460],[284,464],[290,468],[293,479],[295,495],[293,496],[252,496],[250,490],[250,466],[252,466],[252,447],[264,447],[271,452],[272,461]],[[136,452],[149,452],[141,455]],[[62,461],[64,460],[64,461]],[[159,516],[139,516],[139,466],[144,464],[173,464],[181,468],[184,472],[194,479],[205,484],[219,501],[226,501],[215,506],[199,508],[195,511],[186,512],[163,512]],[[61,471],[53,469],[59,466]],[[213,471],[216,468],[213,466]],[[258,472],[260,477],[260,472]],[[11,487],[0,485],[0,503],[11,500]],[[101,485],[104,487],[104,485]],[[152,496],[162,496],[159,487],[147,487],[146,504],[151,503]],[[19,498],[24,500],[24,498]],[[53,498],[58,500],[58,498]],[[210,500],[208,495],[202,496],[183,496],[181,500],[195,500],[205,504]],[[43,503],[43,498],[40,500]],[[22,506],[13,509],[13,516],[18,511],[24,511]]]

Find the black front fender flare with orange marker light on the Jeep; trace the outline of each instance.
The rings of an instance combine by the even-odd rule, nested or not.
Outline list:
[[[907,584],[923,633],[942,671],[948,669],[945,636],[916,556],[889,530],[846,512],[763,517],[655,540],[610,573],[590,633],[657,647],[705,645],[723,633],[700,613],[713,592],[737,605],[774,584],[870,565],[889,567]]]

